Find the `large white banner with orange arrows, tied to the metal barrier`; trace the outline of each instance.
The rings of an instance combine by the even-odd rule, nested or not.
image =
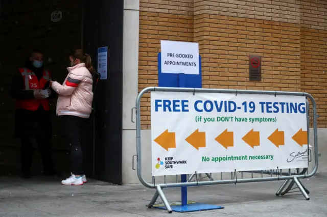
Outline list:
[[[151,93],[154,176],[308,167],[305,96]]]

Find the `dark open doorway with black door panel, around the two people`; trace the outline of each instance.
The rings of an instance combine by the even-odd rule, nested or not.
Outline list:
[[[10,96],[13,74],[24,66],[31,49],[40,48],[44,65],[62,83],[67,75],[68,53],[83,47],[97,66],[97,47],[108,47],[107,79],[95,93],[95,135],[90,124],[84,142],[87,175],[122,183],[122,40],[123,1],[56,0],[3,1],[0,8],[0,175],[19,175],[20,141],[13,137],[15,101]],[[56,16],[52,16],[52,15]],[[59,16],[61,15],[61,17]],[[109,24],[108,24],[109,23]],[[106,28],[107,27],[107,28]],[[114,32],[114,34],[113,34]],[[96,67],[95,67],[96,68]],[[62,136],[61,120],[52,100],[52,150],[56,167],[70,172],[69,149]],[[34,151],[32,174],[42,171]]]

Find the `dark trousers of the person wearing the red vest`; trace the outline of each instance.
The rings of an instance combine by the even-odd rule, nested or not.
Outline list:
[[[20,137],[20,164],[22,173],[30,173],[33,157],[33,146],[37,146],[40,151],[44,172],[55,172],[51,159],[50,139],[51,138],[47,135]]]

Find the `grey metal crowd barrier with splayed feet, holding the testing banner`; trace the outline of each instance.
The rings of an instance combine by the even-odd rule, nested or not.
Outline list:
[[[288,172],[283,172],[281,170],[278,170],[276,172],[274,171],[246,171],[241,172],[242,176],[241,179],[233,179],[233,173],[231,172],[231,179],[228,180],[222,180],[222,173],[221,173],[221,180],[214,180],[212,178],[212,174],[205,174],[209,181],[199,181],[198,179],[195,181],[192,181],[194,176],[196,174],[192,174],[187,182],[178,182],[177,176],[176,176],[176,183],[149,183],[147,182],[143,175],[142,175],[142,165],[141,165],[141,159],[142,159],[142,151],[141,151],[141,98],[144,94],[152,92],[152,91],[169,91],[169,92],[191,92],[191,93],[229,93],[229,94],[263,94],[263,95],[289,95],[289,96],[306,96],[307,98],[307,112],[309,112],[309,101],[312,102],[312,113],[313,113],[313,138],[314,138],[314,160],[315,160],[315,166],[313,171],[308,174],[308,169],[305,168],[301,172],[299,172],[299,169],[297,169],[297,172],[292,173],[291,170]],[[309,114],[307,117],[307,124],[309,126]],[[236,184],[236,183],[249,183],[249,182],[264,182],[264,181],[279,181],[284,180],[284,183],[282,186],[278,189],[276,195],[284,195],[288,193],[292,186],[294,184],[297,185],[302,195],[306,198],[306,200],[309,200],[309,191],[304,187],[304,185],[300,182],[299,179],[301,178],[309,178],[312,177],[317,169],[318,169],[318,136],[317,136],[317,107],[316,102],[314,98],[304,92],[281,92],[281,91],[251,91],[251,90],[226,90],[226,89],[194,89],[194,88],[163,88],[163,87],[148,87],[143,89],[136,98],[136,161],[137,161],[137,176],[139,181],[141,183],[149,188],[155,188],[156,192],[150,201],[150,203],[147,205],[147,207],[151,208],[155,204],[156,200],[160,196],[162,202],[164,203],[167,211],[169,213],[172,212],[171,206],[168,203],[164,193],[162,192],[162,188],[168,188],[168,187],[182,187],[182,186],[204,186],[204,185],[216,185],[216,184]],[[309,168],[309,153],[311,154],[311,151],[309,151],[309,127],[308,127],[308,168]],[[250,172],[252,173],[251,178],[243,178],[243,173]],[[236,173],[236,172],[235,172]],[[254,178],[253,174],[262,174],[260,178]],[[263,175],[270,175],[270,177],[264,177]],[[199,175],[199,174],[198,174]],[[275,175],[273,177],[272,175]],[[165,177],[166,180],[166,177]],[[291,180],[290,185],[287,187],[285,192],[283,192],[284,188],[287,186],[289,181]],[[165,181],[166,182],[166,181]]]

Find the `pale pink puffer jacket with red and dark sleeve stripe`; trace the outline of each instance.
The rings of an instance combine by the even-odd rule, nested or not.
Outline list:
[[[73,115],[89,118],[93,100],[91,73],[84,63],[68,67],[68,75],[60,85],[52,82],[52,89],[59,94],[57,102],[57,116]]]

